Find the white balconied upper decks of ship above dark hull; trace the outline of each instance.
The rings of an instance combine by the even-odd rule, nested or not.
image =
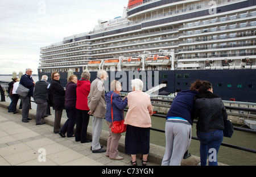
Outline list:
[[[76,71],[91,60],[139,57],[145,50],[150,54],[174,50],[171,60],[176,69],[255,69],[256,7],[218,12],[220,7],[255,1],[169,1],[156,7],[155,2],[161,1],[128,7],[122,17],[98,20],[91,32],[41,48],[39,69]],[[171,66],[164,63],[163,68]]]

